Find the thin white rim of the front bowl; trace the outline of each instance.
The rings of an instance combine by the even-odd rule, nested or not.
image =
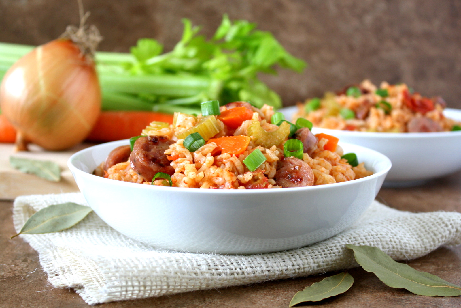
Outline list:
[[[378,152],[378,151],[374,151],[370,148],[367,148],[365,146],[361,146],[361,145],[354,145],[354,144],[351,144],[351,143],[346,143],[346,142],[339,142],[339,145],[350,145],[350,146],[353,146],[353,147],[357,147],[357,148],[361,148],[361,149],[365,149],[366,151],[371,151],[373,153],[373,156],[376,156],[376,157],[379,157],[378,161],[379,162],[384,162],[384,163],[387,163],[387,166],[379,171],[379,172],[376,172],[372,175],[368,175],[366,177],[363,177],[361,179],[357,179],[357,180],[351,180],[351,181],[346,181],[346,182],[341,182],[341,183],[333,183],[333,184],[327,184],[327,185],[317,185],[317,186],[307,186],[307,187],[287,187],[287,188],[274,188],[274,189],[200,189],[200,188],[185,188],[185,187],[167,187],[167,186],[152,186],[152,185],[144,185],[144,184],[139,184],[139,183],[131,183],[131,182],[124,182],[124,181],[117,181],[117,180],[112,180],[112,179],[107,179],[105,177],[101,177],[101,176],[98,176],[98,175],[93,175],[93,174],[90,174],[88,172],[85,172],[81,169],[78,169],[74,164],[74,160],[81,156],[81,155],[84,155],[85,152],[89,152],[89,151],[93,151],[95,148],[97,147],[103,147],[103,146],[107,146],[109,144],[114,144],[114,145],[128,145],[130,144],[130,139],[124,139],[124,140],[117,140],[117,141],[112,141],[112,142],[106,142],[106,143],[103,143],[103,144],[100,144],[100,145],[93,145],[93,146],[90,146],[86,149],[83,149],[83,150],[80,150],[76,153],[74,153],[70,158],[69,160],[67,161],[67,165],[69,167],[69,169],[71,169],[72,173],[78,173],[79,175],[83,176],[83,177],[89,177],[89,176],[94,176],[95,178],[93,178],[93,180],[96,180],[96,181],[103,181],[104,183],[108,184],[109,182],[107,181],[111,181],[111,185],[115,185],[115,187],[117,186],[126,186],[128,185],[128,187],[138,187],[138,189],[154,189],[154,190],[160,190],[160,191],[163,191],[165,189],[169,190],[169,189],[174,189],[174,191],[177,191],[177,192],[190,192],[190,193],[193,193],[193,192],[196,192],[196,193],[232,193],[232,194],[236,194],[236,193],[250,193],[250,194],[254,194],[254,193],[278,193],[280,191],[280,189],[283,190],[284,193],[288,193],[290,191],[299,191],[299,190],[323,190],[323,189],[328,189],[328,187],[331,187],[331,185],[333,185],[334,187],[338,187],[338,186],[347,186],[347,185],[354,185],[355,183],[359,183],[359,182],[364,182],[364,181],[371,181],[372,179],[374,178],[377,178],[381,175],[384,175],[385,173],[389,172],[390,170],[390,167],[392,166],[392,163],[390,162],[390,159],[385,156],[384,154]],[[115,147],[114,147],[115,148]],[[75,177],[75,175],[74,175]],[[134,186],[132,186],[134,185]]]

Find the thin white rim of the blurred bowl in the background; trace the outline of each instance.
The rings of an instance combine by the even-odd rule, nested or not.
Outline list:
[[[291,109],[297,109],[296,106],[285,107],[282,112],[288,111],[290,112]],[[279,110],[279,111],[280,111]],[[456,121],[461,121],[461,109],[455,108],[446,108],[444,110],[446,113],[455,113],[459,114],[459,118],[455,119]],[[447,116],[449,117],[449,116]],[[455,132],[433,132],[433,133],[378,133],[378,132],[356,132],[356,131],[346,131],[342,129],[330,129],[330,128],[322,128],[322,127],[313,127],[315,130],[325,131],[325,133],[329,133],[331,135],[344,135],[344,136],[351,136],[351,137],[382,137],[382,138],[440,138],[440,137],[454,137],[454,136],[461,136],[461,131]]]

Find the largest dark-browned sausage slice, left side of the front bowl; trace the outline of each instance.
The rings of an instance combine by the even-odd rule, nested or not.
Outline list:
[[[130,165],[133,170],[142,175],[146,181],[152,181],[157,172],[169,175],[174,173],[165,150],[175,143],[166,136],[147,136],[136,140],[130,155]]]

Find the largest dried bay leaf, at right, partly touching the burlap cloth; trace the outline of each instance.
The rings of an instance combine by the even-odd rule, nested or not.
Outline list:
[[[392,288],[403,288],[414,294],[425,296],[461,295],[461,286],[394,261],[377,247],[351,244],[346,247],[354,250],[355,260],[365,271],[374,273],[379,280]]]

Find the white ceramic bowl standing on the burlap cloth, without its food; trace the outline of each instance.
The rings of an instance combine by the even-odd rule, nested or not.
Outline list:
[[[194,253],[266,253],[334,236],[371,204],[391,165],[383,154],[342,143],[374,174],[330,185],[248,190],[150,186],[91,174],[112,149],[126,144],[95,145],[69,159],[88,204],[130,238]]]

